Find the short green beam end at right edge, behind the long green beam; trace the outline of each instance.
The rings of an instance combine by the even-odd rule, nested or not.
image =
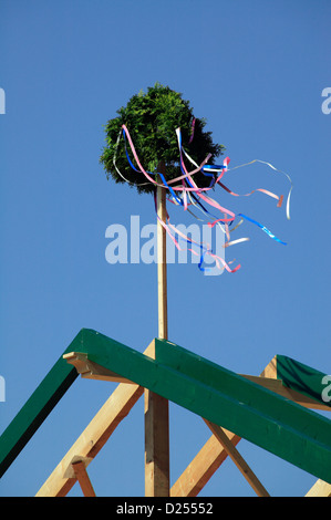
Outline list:
[[[285,386],[331,408],[330,395],[324,396],[328,391],[327,385],[331,382],[328,374],[280,354],[276,356],[276,370],[277,378],[281,379]]]

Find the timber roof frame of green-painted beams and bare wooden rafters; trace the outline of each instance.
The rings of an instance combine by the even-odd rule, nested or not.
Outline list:
[[[60,365],[61,371],[59,371]],[[37,492],[37,497],[64,497],[75,482],[80,483],[84,496],[94,497],[95,491],[87,475],[87,466],[148,386],[153,387],[155,395],[161,398],[174,401],[200,415],[213,434],[178,480],[173,483],[168,496],[196,497],[229,456],[255,492],[258,496],[268,497],[268,491],[237,449],[241,438],[247,438],[318,476],[319,480],[308,491],[307,497],[331,496],[331,423],[311,412],[314,408],[323,410],[331,408],[330,403],[324,403],[321,398],[320,385],[324,374],[307,365],[277,355],[260,376],[238,375],[166,340],[154,340],[144,354],[139,354],[102,334],[83,330],[55,366],[58,366],[56,385],[52,387],[51,379],[53,381],[54,377],[50,377],[49,374],[40,385],[42,388],[39,387],[35,391],[37,396],[33,394],[28,401],[25,405],[28,408],[21,410],[22,417],[15,418],[14,425],[9,425],[0,438],[2,474],[33,435],[31,424],[24,423],[28,409],[30,414],[31,409],[34,413],[35,430],[61,398],[61,394],[63,395],[70,382],[72,383],[79,374],[83,378],[115,381],[118,386]],[[165,382],[168,377],[168,385],[167,383],[161,384],[157,379],[158,374]],[[189,403],[189,398],[186,399],[182,393],[180,398],[176,395],[176,385],[180,384],[182,377],[185,378],[188,387],[192,385],[192,388],[197,389],[196,402]],[[206,388],[207,378],[210,388]],[[239,389],[236,389],[238,385]],[[46,391],[49,395],[45,395]],[[231,423],[231,414],[227,418],[227,397],[230,397],[231,405],[236,406],[237,393],[240,396],[248,394],[255,407],[252,415],[249,415],[251,412],[248,408],[245,410],[245,402],[240,402],[238,414],[244,407],[242,417],[239,415],[238,419]],[[208,402],[211,403],[210,408],[204,406],[204,396],[208,396]],[[35,403],[39,403],[39,408]],[[272,404],[272,409],[276,409],[276,415],[272,417],[266,414],[270,404]],[[219,416],[214,413],[213,406],[215,405],[223,406],[221,415],[225,417],[225,423],[221,425]],[[277,423],[278,416],[279,423]],[[247,424],[252,418],[257,420],[257,424],[268,425],[270,439],[254,437]],[[234,428],[227,428],[227,426],[234,426]],[[13,427],[15,427],[17,438],[10,435]],[[302,428],[307,453],[302,454],[299,460],[292,458],[290,451],[292,446],[303,446],[300,444]],[[236,433],[232,433],[232,429]],[[268,436],[265,435],[265,437]],[[151,441],[153,440],[147,436],[146,454],[151,449],[148,445]],[[146,496],[152,496],[147,491],[147,483],[145,488]]]

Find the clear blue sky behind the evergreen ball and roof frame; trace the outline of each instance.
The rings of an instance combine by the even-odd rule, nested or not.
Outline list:
[[[275,354],[331,373],[331,114],[321,110],[330,17],[327,0],[1,1],[1,430],[80,329],[139,352],[157,335],[156,266],[105,260],[107,226],[128,226],[132,215],[154,222],[153,199],[106,181],[99,164],[103,125],[156,81],[206,117],[232,167],[266,160],[294,185],[290,221],[261,194],[217,191],[220,204],[288,245],[246,223],[238,237],[250,241],[230,251],[237,273],[169,266],[169,339],[238,373],[259,374]],[[228,175],[239,193],[289,188],[261,165]],[[79,379],[1,479],[0,495],[33,496],[113,388]],[[170,436],[175,481],[209,431],[170,406]],[[245,440],[238,449],[270,495],[303,496],[316,481]],[[99,496],[144,495],[142,402],[89,474]],[[71,495],[81,495],[77,486]],[[201,492],[254,495],[230,460]]]

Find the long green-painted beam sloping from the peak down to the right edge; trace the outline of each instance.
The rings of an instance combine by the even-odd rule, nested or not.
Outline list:
[[[331,483],[329,419],[189,351],[162,342],[175,353],[180,351],[179,365],[170,366],[169,356],[164,354],[161,362],[158,340],[156,360],[152,360],[91,330],[84,331],[84,349],[80,352]],[[195,376],[189,375],[193,370]]]

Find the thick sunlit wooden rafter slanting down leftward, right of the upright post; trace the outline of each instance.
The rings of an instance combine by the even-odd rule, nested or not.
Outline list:
[[[236,446],[241,439],[241,437],[232,434],[231,431],[225,431],[234,446]],[[219,440],[211,435],[173,485],[170,497],[197,497],[213,475],[226,460],[227,456],[228,454]]]

